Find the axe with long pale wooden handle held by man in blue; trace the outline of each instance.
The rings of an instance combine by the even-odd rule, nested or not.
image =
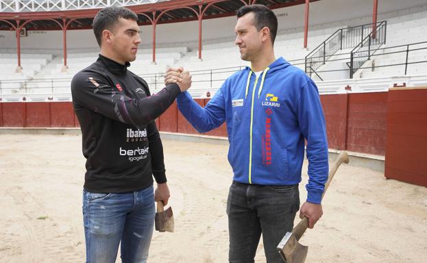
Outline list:
[[[332,181],[332,178],[334,177],[334,174],[337,171],[339,165],[341,165],[341,163],[348,163],[349,161],[350,160],[348,158],[347,152],[341,152],[341,154],[339,154],[337,161],[329,171],[328,182],[325,184],[324,193],[321,195],[322,198],[324,197],[326,189],[328,189],[330,181]],[[306,261],[308,247],[298,243],[298,240],[300,240],[307,227],[308,219],[307,217],[304,217],[297,226],[293,227],[292,232],[287,232],[280,241],[276,249],[282,256],[284,262],[304,263]]]

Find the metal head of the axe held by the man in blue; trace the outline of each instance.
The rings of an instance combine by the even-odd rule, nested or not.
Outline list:
[[[304,263],[308,247],[298,243],[295,234],[287,232],[276,248],[286,263]]]

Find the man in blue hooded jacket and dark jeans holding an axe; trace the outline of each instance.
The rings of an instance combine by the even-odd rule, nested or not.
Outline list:
[[[304,139],[309,180],[300,217],[308,217],[313,228],[323,214],[326,125],[315,83],[282,57],[275,58],[276,15],[264,5],[248,5],[237,17],[235,44],[251,67],[225,80],[204,108],[188,92],[181,93],[178,109],[199,133],[227,123],[234,172],[227,203],[229,261],[254,262],[262,233],[267,262],[279,263],[276,246],[292,230],[300,208]],[[179,82],[181,71],[169,70],[165,82]]]

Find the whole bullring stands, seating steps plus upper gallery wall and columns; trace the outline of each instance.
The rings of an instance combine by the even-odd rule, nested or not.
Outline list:
[[[371,1],[354,2],[358,3],[356,9],[353,5],[351,8],[354,15],[334,14],[331,17],[320,17],[317,12],[337,7],[343,8],[342,13],[345,13],[350,11],[350,8],[341,1],[334,0],[311,3],[310,12],[313,18],[310,18],[308,38],[304,35],[301,19],[301,14],[304,14],[303,5],[295,3],[284,8],[278,5],[279,8],[274,10],[279,19],[279,31],[274,46],[276,57],[284,57],[291,64],[305,70],[316,81],[321,94],[349,92],[345,89],[349,85],[353,87],[353,92],[380,92],[387,90],[397,79],[406,85],[424,85],[427,82],[424,81],[427,79],[427,38],[424,34],[427,29],[427,5],[423,4],[423,1],[406,4],[389,1],[389,5],[380,8],[378,20],[373,24],[371,15],[367,12],[371,6],[364,7]],[[144,6],[144,3],[145,1],[139,1],[130,4]],[[232,1],[227,3],[234,4]],[[162,1],[157,3],[160,7],[162,4]],[[225,3],[223,4],[225,6]],[[3,12],[10,8],[2,6]],[[73,6],[69,8],[73,9]],[[233,8],[234,5],[230,5],[225,10]],[[211,12],[207,5],[206,9],[208,15],[215,16],[215,12]],[[32,11],[36,14],[43,10],[38,8]],[[182,14],[179,10],[177,13],[173,12],[175,11],[169,11],[167,14]],[[183,66],[193,72],[191,94],[204,98],[209,92],[212,96],[223,80],[236,70],[248,66],[246,61],[241,60],[239,50],[234,44],[234,18],[232,14],[230,16],[204,20],[203,26],[206,30],[203,31],[200,51],[197,34],[188,33],[192,29],[197,31],[197,21],[167,23],[170,17],[162,17],[160,20],[163,23],[156,29],[158,32],[154,51],[154,42],[150,39],[151,33],[154,33],[153,29],[141,16],[143,43],[130,70],[141,75],[150,88],[157,92],[162,88],[163,74],[167,67]],[[188,18],[191,20],[191,17]],[[8,27],[5,21],[13,22],[3,19],[0,21],[0,29]],[[78,21],[82,25],[88,23],[90,26],[90,18]],[[71,27],[75,26],[73,23],[77,20],[69,22]],[[61,31],[30,28],[40,27],[32,23],[35,22],[27,24],[27,37],[23,35],[21,38],[20,68],[16,64],[16,39],[10,39],[13,32],[0,31],[4,32],[3,38],[0,38],[4,43],[0,46],[2,100],[19,100],[31,96],[37,96],[37,99],[45,96],[46,100],[60,96],[69,100],[71,78],[76,72],[93,63],[99,53],[93,33],[90,29],[76,29],[80,31],[79,36],[77,31],[69,31],[66,35],[68,43],[64,57],[64,51],[60,50]],[[228,30],[223,30],[225,27],[228,27]],[[178,41],[171,41],[171,35],[176,36]],[[32,38],[34,42],[28,42]],[[305,47],[304,41],[308,42]],[[44,49],[43,46],[49,48]],[[365,83],[370,83],[367,84],[369,87]]]

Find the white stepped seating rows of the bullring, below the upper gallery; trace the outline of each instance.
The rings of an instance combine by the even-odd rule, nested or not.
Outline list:
[[[422,79],[422,76],[427,78],[427,63],[411,63],[427,61],[427,37],[425,35],[427,5],[414,12],[406,12],[402,15],[394,12],[385,15],[385,17],[387,16],[389,16],[386,19],[387,41],[380,47],[387,49],[377,51],[371,59],[366,61],[361,69],[355,72],[353,80],[349,79],[350,74],[347,67],[347,61],[350,61],[349,53],[352,49],[337,52],[332,56],[331,61],[327,61],[317,70],[317,74],[311,76],[317,82],[321,93],[346,92],[343,89],[345,87],[343,83],[349,83],[349,81],[360,92],[385,90],[386,86],[393,82],[393,80],[390,81],[393,77],[409,78],[406,79],[406,83],[413,83],[413,85],[424,83],[424,81],[420,81],[420,78]],[[291,64],[305,70],[306,55],[337,29],[354,26],[354,23],[354,20],[344,20],[330,25],[314,26],[309,32],[307,49],[302,48],[304,32],[301,28],[279,31],[274,46],[276,57],[284,57]],[[424,43],[410,46],[411,49],[419,50],[408,53],[409,64],[405,66],[407,48],[405,45],[417,42]],[[185,43],[180,44],[182,46],[172,47],[159,44],[156,48],[155,64],[152,62],[151,46],[142,46],[138,51],[137,60],[131,63],[130,70],[141,75],[149,83],[152,91],[157,92],[163,87],[163,76],[168,66],[184,66],[193,72],[191,93],[196,97],[204,97],[206,92],[215,94],[224,79],[248,65],[246,61],[240,59],[239,49],[234,44],[234,38],[204,40],[202,59],[199,59],[198,50],[194,47],[193,42],[188,42],[188,46]],[[393,46],[400,47],[391,49]],[[396,53],[397,51],[403,52]],[[64,59],[58,53],[49,54],[48,50],[42,49],[34,50],[32,53],[23,52],[21,54],[22,72],[16,72],[16,51],[0,49],[0,90],[2,95],[30,94],[36,96],[36,94],[44,94],[47,97],[52,94],[68,94],[70,97],[69,86],[73,75],[92,64],[99,54],[96,49],[83,51],[69,49],[66,59],[68,68],[64,72]],[[384,80],[384,77],[389,79]],[[417,81],[411,81],[414,77]],[[378,85],[373,86],[376,85],[378,88],[365,87],[363,79],[377,83]],[[384,83],[387,85],[383,85]]]

